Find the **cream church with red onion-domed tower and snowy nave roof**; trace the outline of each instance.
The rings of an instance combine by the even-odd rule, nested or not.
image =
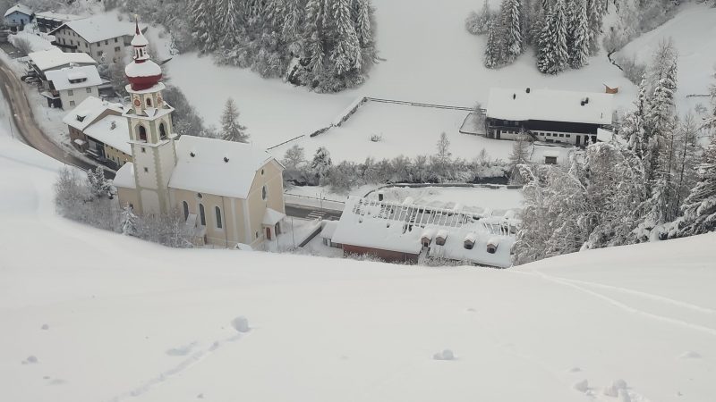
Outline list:
[[[137,214],[180,211],[198,245],[258,247],[275,239],[286,217],[283,165],[249,144],[177,138],[174,108],[162,98],[162,70],[149,58],[148,45],[137,24],[134,60],[124,70],[131,105],[122,114],[132,162],[114,180],[119,202]]]

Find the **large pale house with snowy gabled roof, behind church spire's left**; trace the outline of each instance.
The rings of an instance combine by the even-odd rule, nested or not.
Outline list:
[[[143,27],[146,31],[147,27]],[[68,53],[86,53],[98,61],[116,62],[130,46],[134,24],[117,21],[112,15],[97,15],[81,20],[66,21],[53,29],[53,45]]]

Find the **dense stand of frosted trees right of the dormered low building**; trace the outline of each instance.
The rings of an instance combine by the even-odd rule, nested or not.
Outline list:
[[[515,264],[716,230],[716,85],[711,116],[679,118],[677,59],[662,42],[614,140],[587,147],[568,167],[519,165]]]

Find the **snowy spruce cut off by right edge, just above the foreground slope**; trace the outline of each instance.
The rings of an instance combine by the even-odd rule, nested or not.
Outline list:
[[[703,152],[698,166],[698,183],[682,208],[679,236],[693,236],[716,230],[716,135]]]

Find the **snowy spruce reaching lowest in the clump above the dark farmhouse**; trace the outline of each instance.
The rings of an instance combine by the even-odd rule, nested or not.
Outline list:
[[[567,15],[564,0],[557,0],[543,24],[537,50],[537,68],[557,74],[567,68]]]

